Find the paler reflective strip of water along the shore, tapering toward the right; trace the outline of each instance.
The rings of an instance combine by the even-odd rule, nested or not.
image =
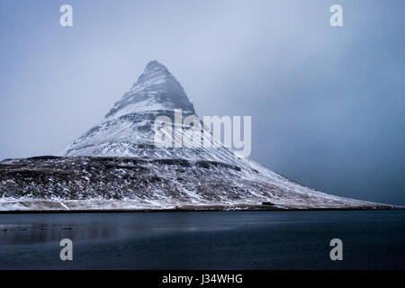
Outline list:
[[[0,215],[0,244],[55,242],[61,238],[108,240],[175,232],[215,231],[305,223],[404,221],[393,211],[242,211]]]

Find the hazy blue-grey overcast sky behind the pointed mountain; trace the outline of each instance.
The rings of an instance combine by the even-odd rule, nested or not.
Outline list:
[[[401,0],[0,0],[0,158],[57,154],[157,59],[200,116],[252,116],[258,162],[405,204],[404,15]]]

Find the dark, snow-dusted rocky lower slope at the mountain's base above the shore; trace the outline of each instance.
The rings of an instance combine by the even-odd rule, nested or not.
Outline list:
[[[390,208],[208,160],[34,157],[3,161],[0,179],[3,211]]]

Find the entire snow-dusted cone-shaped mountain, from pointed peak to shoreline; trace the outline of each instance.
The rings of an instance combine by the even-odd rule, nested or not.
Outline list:
[[[182,121],[198,119],[175,76],[149,62],[100,125],[60,157],[0,162],[0,211],[392,208],[321,193],[224,145],[159,147],[155,120],[175,121],[175,109],[182,110]],[[185,136],[175,136],[175,143],[187,144],[193,130],[177,126]],[[211,133],[202,138],[218,143]]]

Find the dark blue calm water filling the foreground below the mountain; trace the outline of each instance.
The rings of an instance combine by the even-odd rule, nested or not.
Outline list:
[[[58,242],[74,242],[62,262]],[[343,241],[331,261],[329,241]],[[0,215],[1,269],[403,269],[405,211]]]

